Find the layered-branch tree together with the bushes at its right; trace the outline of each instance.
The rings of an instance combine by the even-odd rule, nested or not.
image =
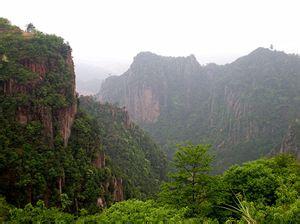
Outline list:
[[[205,145],[179,148],[174,156],[176,169],[170,181],[162,185],[160,202],[174,208],[186,207],[186,215],[199,220],[206,217],[220,223],[299,222],[300,164],[294,156],[262,158],[212,176],[206,173],[211,161],[207,149]],[[200,180],[194,187],[193,173]]]

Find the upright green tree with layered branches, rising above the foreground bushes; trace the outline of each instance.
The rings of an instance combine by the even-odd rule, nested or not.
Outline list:
[[[210,145],[182,145],[174,155],[175,171],[169,174],[170,182],[162,186],[162,201],[178,207],[189,207],[191,215],[200,212],[209,194],[212,155]]]

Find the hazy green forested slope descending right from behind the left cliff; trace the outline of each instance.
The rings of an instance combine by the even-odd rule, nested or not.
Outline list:
[[[80,107],[95,118],[93,123],[101,131],[98,138],[110,158],[109,164],[124,179],[126,197],[153,196],[165,177],[166,160],[160,148],[129,120],[124,109],[99,104],[89,97],[80,98]]]

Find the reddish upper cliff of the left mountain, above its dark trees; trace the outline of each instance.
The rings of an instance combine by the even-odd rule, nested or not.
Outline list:
[[[25,33],[13,27],[2,28],[0,94],[6,99],[27,98],[10,113],[15,113],[15,119],[22,125],[39,120],[50,146],[54,145],[57,134],[67,146],[77,110],[71,48],[62,41],[51,46],[38,34]],[[39,52],[39,47],[48,48],[48,52]],[[55,82],[53,79],[56,77],[58,82],[63,80],[64,86],[55,88],[49,85]],[[49,97],[49,102],[45,102],[46,97]],[[64,102],[55,105],[56,100]]]

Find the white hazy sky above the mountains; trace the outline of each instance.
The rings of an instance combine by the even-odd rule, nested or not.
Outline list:
[[[62,36],[75,61],[123,63],[152,51],[225,63],[270,44],[300,51],[297,0],[1,0],[0,16]]]

